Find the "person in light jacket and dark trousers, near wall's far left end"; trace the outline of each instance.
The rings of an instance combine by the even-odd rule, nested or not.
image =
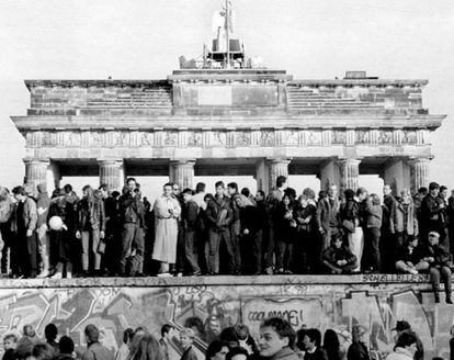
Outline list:
[[[18,201],[15,220],[22,273],[25,278],[35,278],[37,272],[36,203],[25,194],[23,187],[15,187],[12,193]]]

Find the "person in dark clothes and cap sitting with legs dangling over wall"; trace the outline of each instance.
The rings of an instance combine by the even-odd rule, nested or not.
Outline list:
[[[429,273],[432,281],[432,289],[435,295],[435,303],[440,303],[440,278],[444,282],[446,293],[446,304],[452,304],[451,292],[451,269],[450,252],[439,244],[440,234],[436,232],[429,233],[429,245],[424,261],[429,262]]]

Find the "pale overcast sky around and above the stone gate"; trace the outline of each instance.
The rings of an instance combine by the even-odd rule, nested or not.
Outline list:
[[[235,0],[249,56],[296,79],[345,70],[429,79],[424,106],[454,111],[452,0]],[[0,184],[24,176],[10,115],[30,104],[24,79],[163,79],[212,38],[214,0],[0,0]],[[454,188],[454,125],[433,138],[432,178]]]

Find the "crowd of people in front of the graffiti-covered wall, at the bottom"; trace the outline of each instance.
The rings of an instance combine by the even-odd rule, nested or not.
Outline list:
[[[449,344],[451,360],[454,358],[454,326]],[[393,328],[395,346],[390,347],[386,360],[424,360],[424,348],[411,325],[398,320]],[[291,324],[280,317],[270,317],[260,325],[258,338],[249,328],[238,324],[227,327],[205,346],[200,342],[196,328],[177,329],[170,324],[161,327],[160,338],[151,335],[145,326],[123,331],[123,344],[113,351],[104,347],[97,326],[84,328],[84,350],[75,348],[68,336],[58,339],[54,324],[45,327],[45,340],[36,336],[31,325],[25,325],[23,335],[8,333],[3,336],[2,360],[371,360],[368,329],[353,325],[352,333],[325,330],[324,337],[317,328],[303,326],[295,331]],[[57,341],[58,339],[58,341]],[[198,340],[197,340],[198,339]],[[425,359],[428,359],[425,357]],[[443,360],[443,358],[433,358]]]

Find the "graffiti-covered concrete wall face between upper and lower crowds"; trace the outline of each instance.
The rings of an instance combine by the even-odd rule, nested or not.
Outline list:
[[[452,306],[433,303],[433,294],[408,284],[342,285],[197,285],[173,288],[71,288],[4,290],[0,297],[0,336],[32,324],[44,336],[48,323],[70,336],[77,348],[86,347],[83,329],[92,323],[112,351],[121,346],[123,330],[146,326],[159,336],[170,323],[191,327],[203,349],[220,331],[235,324],[248,325],[259,336],[269,316],[286,318],[295,329],[333,328],[348,334],[355,324],[368,328],[371,352],[382,359],[394,346],[396,320],[408,319],[417,329],[428,357],[449,356]],[[342,339],[341,339],[342,340]],[[343,340],[348,341],[348,337]],[[179,355],[174,339],[174,357]]]

